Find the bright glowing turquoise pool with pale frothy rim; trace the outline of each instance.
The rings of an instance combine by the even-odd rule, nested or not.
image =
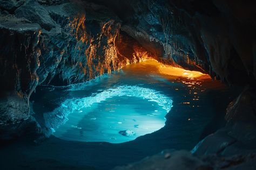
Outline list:
[[[77,87],[69,90],[81,90]],[[65,100],[45,118],[54,115],[63,120],[62,125],[52,128],[58,138],[123,143],[163,128],[171,107],[171,98],[159,91],[118,86]]]

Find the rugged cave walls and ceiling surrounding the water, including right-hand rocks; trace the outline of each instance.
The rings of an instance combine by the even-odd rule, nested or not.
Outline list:
[[[201,141],[194,155],[229,156],[251,146],[255,8],[253,1],[227,0],[0,0],[0,138],[39,133],[29,107],[38,85],[84,82],[153,58],[247,86],[228,107],[226,127]]]

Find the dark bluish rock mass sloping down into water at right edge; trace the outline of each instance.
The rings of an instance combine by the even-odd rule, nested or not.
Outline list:
[[[247,87],[227,108],[225,128],[206,137],[193,150],[197,155],[208,153],[248,153],[242,146],[256,151],[256,115],[254,88]],[[230,153],[231,152],[231,153]]]

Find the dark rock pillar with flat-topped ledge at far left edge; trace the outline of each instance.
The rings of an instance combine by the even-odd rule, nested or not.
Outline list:
[[[17,126],[30,117],[29,96],[38,82],[40,30],[38,24],[26,19],[0,16],[1,131],[5,126]]]

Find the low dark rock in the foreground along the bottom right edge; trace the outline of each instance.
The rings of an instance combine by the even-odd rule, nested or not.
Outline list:
[[[197,157],[188,151],[165,150],[159,154],[147,157],[139,162],[127,166],[116,167],[113,170],[127,169],[173,169],[173,170],[211,170],[211,169],[255,169],[256,154],[233,155],[230,157],[217,157],[208,154]]]

